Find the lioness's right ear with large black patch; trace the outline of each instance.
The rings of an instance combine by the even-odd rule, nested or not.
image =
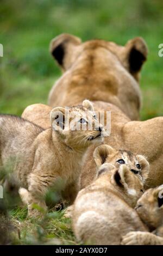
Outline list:
[[[136,78],[138,72],[141,70],[143,63],[147,59],[148,48],[146,42],[140,38],[136,37],[131,39],[125,45],[125,56],[126,65],[129,72]]]

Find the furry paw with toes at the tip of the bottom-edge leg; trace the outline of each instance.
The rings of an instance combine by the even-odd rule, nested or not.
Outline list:
[[[121,245],[145,245],[146,232],[131,231],[122,237]]]

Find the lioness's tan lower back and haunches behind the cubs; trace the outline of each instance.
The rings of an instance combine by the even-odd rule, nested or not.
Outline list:
[[[134,155],[140,154],[146,156],[150,163],[150,171],[148,179],[146,180],[146,186],[158,186],[163,183],[163,118],[157,117],[149,119],[147,121],[130,121],[130,119],[124,115],[117,107],[105,103],[105,102],[94,102],[93,106],[95,111],[111,111],[111,135],[104,138],[104,143],[110,145],[115,149],[126,149],[131,151]],[[36,106],[39,108],[39,105]],[[49,119],[46,115],[42,115],[43,109],[49,109],[52,107],[46,105],[40,106],[40,121],[34,121],[35,111],[28,112],[29,121],[41,124],[43,126],[49,126]],[[36,111],[36,113],[38,113]],[[26,118],[26,109],[23,118]],[[87,157],[85,160],[81,185],[82,188],[89,185],[95,177],[96,164],[93,160],[93,151],[95,146],[92,145],[87,150]]]

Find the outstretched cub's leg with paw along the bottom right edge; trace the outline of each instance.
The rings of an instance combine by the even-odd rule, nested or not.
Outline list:
[[[149,232],[131,231],[122,237],[121,245],[163,245],[163,238]]]

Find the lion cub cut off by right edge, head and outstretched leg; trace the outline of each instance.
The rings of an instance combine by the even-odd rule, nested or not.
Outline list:
[[[129,232],[123,237],[122,245],[163,245],[163,185],[149,188],[137,201],[137,214],[148,230]]]

